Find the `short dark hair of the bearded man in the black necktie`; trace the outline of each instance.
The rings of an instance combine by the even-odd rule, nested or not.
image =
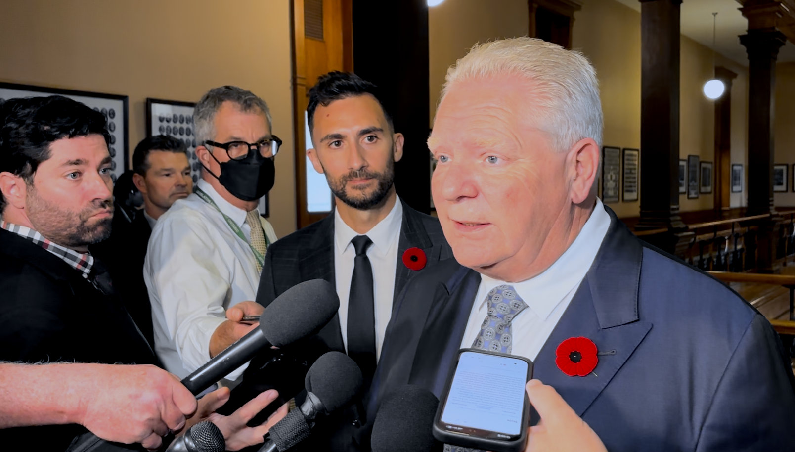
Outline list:
[[[309,122],[309,132],[315,129],[315,110],[318,105],[328,107],[329,103],[339,99],[346,99],[356,95],[372,95],[381,106],[381,110],[386,117],[386,123],[393,129],[392,116],[386,110],[381,92],[377,86],[371,84],[353,72],[332,71],[324,74],[317,79],[317,83],[309,90],[309,103],[306,107],[306,115]]]

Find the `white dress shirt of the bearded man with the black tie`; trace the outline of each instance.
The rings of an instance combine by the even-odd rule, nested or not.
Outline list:
[[[347,350],[347,309],[353,277],[354,250],[351,239],[368,236],[373,244],[367,248],[367,259],[373,267],[373,298],[375,302],[375,357],[381,356],[386,324],[392,316],[392,298],[395,289],[397,251],[400,228],[403,223],[403,206],[399,197],[389,214],[370,231],[359,234],[345,224],[339,211],[334,211],[334,278],[339,295],[339,327],[343,333],[343,344]]]

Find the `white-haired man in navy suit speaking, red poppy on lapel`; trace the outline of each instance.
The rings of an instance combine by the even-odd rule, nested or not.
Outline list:
[[[457,262],[397,300],[368,414],[402,384],[440,396],[458,349],[474,347],[533,360],[541,427],[527,450],[793,450],[778,337],[599,201],[602,124],[594,68],[560,46],[475,45],[448,71],[429,148]]]

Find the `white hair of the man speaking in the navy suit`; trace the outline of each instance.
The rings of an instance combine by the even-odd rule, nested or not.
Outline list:
[[[602,102],[594,67],[582,53],[540,39],[514,37],[476,44],[448,69],[440,102],[456,82],[505,74],[537,85],[533,95],[543,110],[537,115],[537,127],[553,137],[553,149],[564,152],[584,138],[593,138],[601,148]]]

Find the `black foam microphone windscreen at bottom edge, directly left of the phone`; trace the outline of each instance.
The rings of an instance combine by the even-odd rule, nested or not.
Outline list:
[[[387,394],[375,415],[370,447],[373,452],[440,451],[432,425],[439,399],[425,388],[406,385]]]

